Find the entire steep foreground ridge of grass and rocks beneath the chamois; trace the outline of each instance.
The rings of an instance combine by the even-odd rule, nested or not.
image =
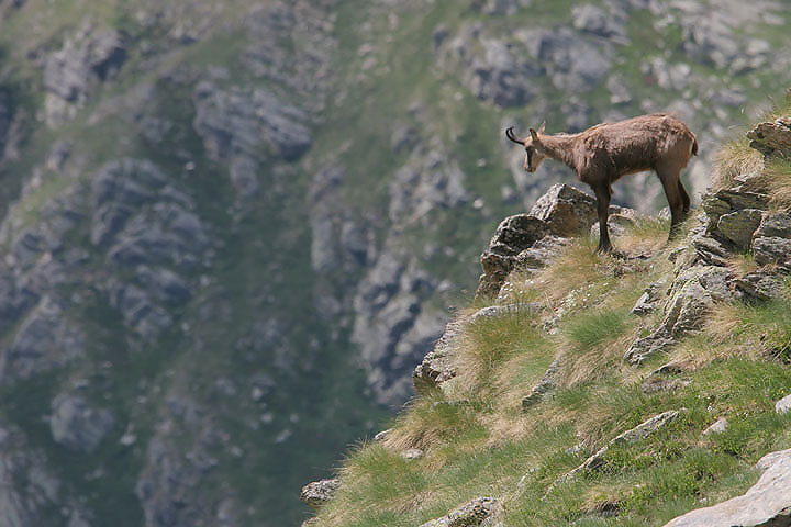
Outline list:
[[[505,218],[419,396],[304,525],[787,525],[789,116],[791,90],[722,147],[679,239],[614,209],[597,256],[566,186]]]

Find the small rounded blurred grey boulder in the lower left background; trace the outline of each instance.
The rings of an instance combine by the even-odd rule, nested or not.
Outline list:
[[[52,403],[49,430],[55,442],[76,452],[92,452],[113,428],[108,410],[91,406],[82,396],[63,393]]]

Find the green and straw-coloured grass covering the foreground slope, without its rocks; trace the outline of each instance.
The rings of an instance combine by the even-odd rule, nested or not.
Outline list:
[[[733,148],[743,152],[727,145],[723,156]],[[743,170],[755,169],[748,156],[743,161]],[[764,171],[777,208],[789,206],[789,167],[780,161]],[[728,164],[717,177],[733,170]],[[413,401],[382,442],[349,455],[342,487],[316,525],[414,526],[488,495],[506,500],[508,526],[660,526],[755,483],[755,462],[791,446],[791,415],[773,408],[791,385],[791,280],[773,301],[716,306],[701,333],[638,368],[624,366],[628,345],[659,322],[659,314],[642,318],[631,307],[648,284],[672,273],[668,254],[684,243],[662,247],[665,233],[648,220],[616,242],[651,250],[645,261],[599,257],[577,240],[536,277],[512,276],[506,302],[537,301],[542,316],[468,324],[456,348],[459,377]],[[733,269],[745,273],[755,264],[735,257]],[[521,400],[558,354],[560,388],[522,411]],[[644,392],[642,382],[669,360],[682,370],[667,377],[677,388]],[[668,410],[681,416],[611,448],[598,470],[559,480],[611,438]],[[720,417],[726,431],[702,436]],[[403,459],[412,447],[425,456]],[[617,517],[602,514],[613,508]]]

